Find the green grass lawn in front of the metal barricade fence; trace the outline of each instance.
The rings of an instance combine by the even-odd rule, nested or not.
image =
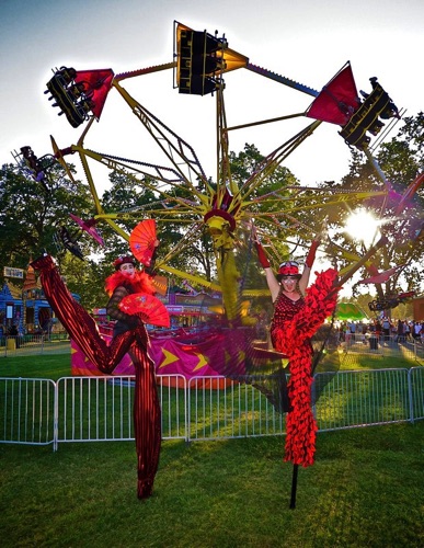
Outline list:
[[[0,376],[69,375],[69,355],[0,359]],[[424,546],[424,421],[319,433],[294,510],[283,456],[284,436],[165,441],[154,494],[139,501],[134,442],[0,444],[0,544]]]

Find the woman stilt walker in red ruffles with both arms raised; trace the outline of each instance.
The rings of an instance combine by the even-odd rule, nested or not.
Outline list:
[[[298,263],[287,261],[279,265],[275,275],[263,247],[255,241],[274,302],[271,340],[275,350],[289,359],[287,386],[290,410],[286,421],[285,460],[295,465],[296,475],[299,465],[313,465],[316,453],[317,423],[311,409],[313,350],[310,339],[332,315],[337,296],[334,289],[337,272],[334,269],[318,274],[314,284],[307,289],[318,246],[319,241],[312,242],[302,274]]]

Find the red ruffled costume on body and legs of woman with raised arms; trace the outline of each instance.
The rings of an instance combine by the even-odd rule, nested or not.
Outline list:
[[[318,274],[307,296],[289,301],[279,294],[271,326],[275,349],[289,358],[288,396],[291,410],[286,421],[285,460],[303,467],[313,465],[317,423],[311,409],[312,346],[310,338],[336,306],[336,271]]]

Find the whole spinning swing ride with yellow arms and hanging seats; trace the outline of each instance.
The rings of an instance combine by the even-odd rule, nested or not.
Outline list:
[[[82,133],[76,144],[66,148],[59,148],[51,137],[53,155],[46,155],[39,160],[30,147],[23,147],[21,155],[18,156],[22,156],[33,176],[43,183],[45,172],[51,162],[59,162],[66,169],[68,176],[73,180],[67,162],[69,157],[78,155],[93,198],[93,215],[91,219],[84,220],[78,217],[76,212],[72,219],[99,246],[107,243],[98,231],[98,227],[103,224],[108,225],[128,243],[131,235],[123,229],[121,220],[134,220],[134,226],[137,226],[146,219],[154,219],[159,235],[161,227],[171,225],[177,227],[180,236],[177,243],[164,256],[160,254],[160,247],[154,252],[154,255],[158,255],[154,256],[154,272],[180,277],[190,284],[221,294],[227,326],[234,328],[229,339],[233,347],[230,354],[230,359],[233,361],[232,370],[245,374],[247,368],[239,366],[240,355],[236,356],[244,349],[244,343],[239,343],[237,339],[238,332],[242,330],[238,331],[237,328],[252,326],[248,313],[250,299],[267,294],[264,288],[248,287],[245,283],[245,267],[250,263],[249,253],[252,249],[253,235],[257,235],[262,243],[272,251],[273,256],[270,260],[276,269],[283,259],[287,259],[287,254],[290,258],[295,255],[299,243],[302,248],[322,231],[322,226],[314,227],[302,222],[302,212],[313,208],[320,212],[333,210],[345,208],[346,204],[353,204],[355,207],[358,203],[375,199],[382,204],[380,214],[383,216],[390,206],[391,189],[371,150],[377,140],[400,119],[402,111],[397,109],[376,78],[370,78],[369,93],[358,93],[349,62],[346,62],[321,91],[317,91],[253,65],[245,55],[230,49],[225,36],[219,37],[217,34],[194,31],[175,21],[174,52],[170,62],[117,75],[112,69],[78,70],[73,67],[56,69],[47,82],[45,93],[49,95],[53,106],[59,110],[60,115],[65,114],[73,128],[83,126]],[[177,89],[179,93],[211,95],[215,100],[216,173],[214,176],[205,172],[193,146],[127,90],[128,81],[167,70],[172,70],[173,88]],[[236,70],[248,70],[261,78],[288,87],[295,93],[302,93],[309,98],[305,110],[229,126],[225,104],[226,85],[230,84],[230,73]],[[228,82],[225,82],[225,79]],[[152,163],[146,157],[129,159],[112,151],[107,153],[94,151],[85,146],[94,125],[102,123],[103,110],[107,109],[107,98],[113,92],[116,92],[128,106],[139,122],[140,129],[147,132],[152,147],[156,147],[156,151],[163,158],[162,164]],[[240,181],[231,169],[230,136],[236,132],[249,132],[260,126],[270,127],[272,124],[294,118],[305,121],[305,127],[267,153],[254,170]],[[271,192],[263,191],[289,155],[297,152],[305,140],[325,123],[339,126],[339,134],[346,145],[360,150],[367,157],[379,180],[377,187],[368,192],[346,192],[334,191],[328,186],[282,184]],[[382,129],[383,126],[386,129]],[[374,137],[376,140],[371,145]],[[144,153],[148,153],[146,149]],[[135,192],[140,189],[151,191],[157,199],[151,205],[139,208],[106,213],[98,194],[98,184],[91,169],[92,162],[125,176],[134,185]],[[403,203],[402,199],[397,202],[397,215],[403,219],[405,226],[411,220],[411,216],[405,214],[408,205],[422,183],[423,175],[419,175],[402,196]],[[325,215],[321,215],[321,218],[324,217]],[[301,239],[299,232],[302,235]],[[211,242],[215,256],[213,279],[193,272],[183,272],[173,265],[173,259],[195,244],[200,235],[207,235]],[[77,254],[78,243],[69,233],[67,237],[66,242],[62,240],[64,244]],[[380,273],[375,272],[375,269],[373,271],[373,256],[380,248],[387,246],[389,240],[390,224],[386,226],[385,236],[379,241],[373,242],[368,249],[363,247],[360,256],[329,241],[335,267],[337,259],[347,263],[344,269],[337,269],[337,286],[342,286],[362,267],[368,269],[373,276],[378,276]],[[222,362],[228,361],[226,358]],[[218,373],[227,374],[228,369],[218,369]],[[297,466],[295,471],[297,477]],[[296,495],[295,476],[293,489],[291,507]]]

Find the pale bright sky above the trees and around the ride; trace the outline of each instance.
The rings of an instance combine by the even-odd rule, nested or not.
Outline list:
[[[218,31],[251,64],[317,91],[351,61],[358,90],[369,92],[369,78],[377,77],[406,115],[423,110],[422,0],[0,0],[0,164],[13,162],[11,151],[26,145],[38,158],[51,153],[50,135],[59,148],[77,144],[84,126],[72,128],[44,94],[53,69],[112,68],[121,73],[170,62],[174,21],[195,31]],[[303,113],[313,100],[245,69],[225,75],[225,82],[228,126]],[[179,94],[172,70],[124,80],[123,85],[194,147],[206,174],[215,179],[215,100]],[[229,149],[239,152],[249,142],[266,156],[310,122],[300,117],[232,132]],[[301,184],[340,181],[348,173],[351,153],[339,130],[321,124],[285,160]],[[157,145],[116,90],[84,145],[163,164]],[[77,158],[75,163],[83,179]],[[108,187],[108,173],[98,170],[93,174],[101,194]]]

